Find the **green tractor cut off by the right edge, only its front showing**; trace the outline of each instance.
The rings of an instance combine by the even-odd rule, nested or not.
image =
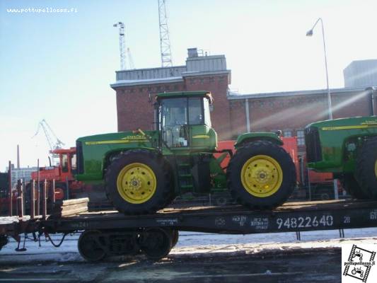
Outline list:
[[[377,200],[377,117],[315,122],[305,129],[308,168],[332,172],[357,199]]]

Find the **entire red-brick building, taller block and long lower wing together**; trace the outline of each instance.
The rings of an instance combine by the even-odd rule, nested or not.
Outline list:
[[[232,139],[242,132],[281,129],[285,136],[298,137],[301,153],[304,151],[304,127],[328,117],[326,90],[240,95],[228,91],[231,70],[226,69],[224,55],[203,56],[192,48],[188,50],[185,63],[176,67],[116,72],[117,81],[111,87],[117,93],[118,131],[138,127],[152,129],[153,106],[149,93],[163,91],[211,91],[214,97],[211,120],[220,140]],[[348,85],[352,86],[352,82]],[[369,83],[369,86],[376,85],[374,81]],[[334,118],[377,113],[374,88],[332,89],[331,97]]]

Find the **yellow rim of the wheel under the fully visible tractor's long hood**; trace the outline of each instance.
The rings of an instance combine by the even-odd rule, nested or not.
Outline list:
[[[156,192],[156,175],[143,163],[131,163],[120,171],[117,190],[129,203],[141,204],[148,201]]]

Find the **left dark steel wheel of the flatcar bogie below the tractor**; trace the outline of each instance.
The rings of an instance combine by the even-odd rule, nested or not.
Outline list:
[[[101,238],[102,232],[97,230],[88,230],[81,233],[79,238],[80,255],[88,261],[98,261],[105,258],[106,250],[104,248],[104,239]]]

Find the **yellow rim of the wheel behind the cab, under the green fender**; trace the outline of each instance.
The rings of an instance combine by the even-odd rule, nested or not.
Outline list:
[[[283,171],[271,156],[257,155],[248,159],[241,170],[245,190],[255,197],[274,195],[282,185]]]

